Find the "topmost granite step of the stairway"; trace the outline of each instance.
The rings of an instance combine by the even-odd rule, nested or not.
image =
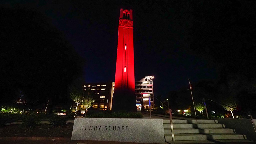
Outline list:
[[[163,120],[164,124],[170,124],[170,120]],[[218,124],[218,120],[173,120],[173,124]]]

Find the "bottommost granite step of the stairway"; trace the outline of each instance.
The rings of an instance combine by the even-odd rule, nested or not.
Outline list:
[[[246,139],[229,139],[229,140],[180,140],[175,141],[175,144],[191,144],[191,143],[243,143],[243,142],[253,142]],[[172,141],[166,141],[166,143],[172,143]]]

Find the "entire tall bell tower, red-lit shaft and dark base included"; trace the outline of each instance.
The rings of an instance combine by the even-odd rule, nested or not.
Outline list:
[[[112,110],[136,110],[132,10],[120,10]]]

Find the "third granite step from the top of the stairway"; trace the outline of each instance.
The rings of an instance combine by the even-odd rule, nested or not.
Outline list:
[[[236,133],[234,129],[228,128],[202,128],[202,129],[194,129],[194,128],[177,128],[174,129],[175,134],[185,134],[185,133]],[[164,134],[172,134],[172,129],[165,128]]]

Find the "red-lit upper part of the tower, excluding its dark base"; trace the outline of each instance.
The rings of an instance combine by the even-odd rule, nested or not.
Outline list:
[[[115,91],[129,89],[134,92],[134,51],[132,10],[120,10],[118,48],[115,70]]]

